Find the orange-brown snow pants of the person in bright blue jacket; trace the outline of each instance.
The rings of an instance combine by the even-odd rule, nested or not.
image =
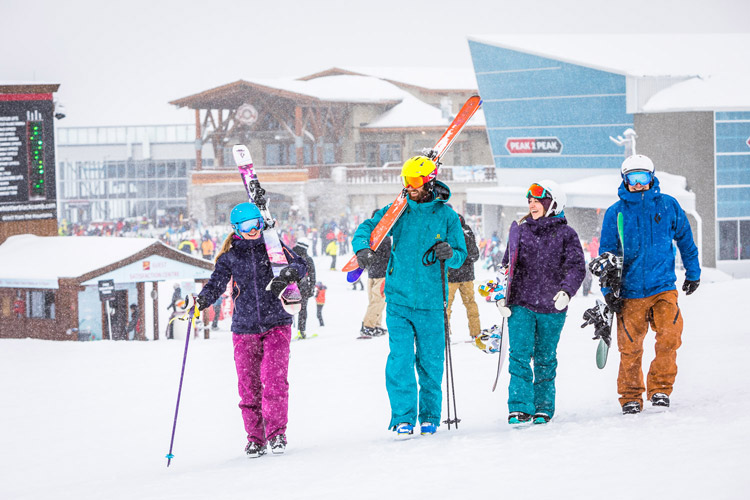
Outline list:
[[[668,290],[643,299],[625,299],[617,318],[617,348],[620,373],[617,392],[620,404],[638,401],[643,407],[643,392],[651,399],[657,392],[672,393],[677,376],[677,348],[682,344],[682,314],[677,305],[677,290]],[[648,327],[656,332],[653,361],[643,385],[643,340]]]

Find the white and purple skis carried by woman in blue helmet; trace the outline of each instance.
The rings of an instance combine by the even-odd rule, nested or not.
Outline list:
[[[276,221],[268,210],[268,201],[266,200],[266,191],[260,185],[258,176],[253,168],[253,159],[247,147],[238,144],[232,148],[234,161],[242,177],[242,183],[245,185],[248,200],[257,205],[263,216],[263,242],[266,245],[268,260],[271,261],[271,269],[274,277],[278,277],[283,268],[289,265],[289,261],[284,253],[284,247],[281,245],[279,233],[276,232]],[[269,290],[270,283],[266,286]],[[297,314],[302,309],[302,294],[299,291],[297,283],[290,283],[279,295],[281,305],[289,314]]]

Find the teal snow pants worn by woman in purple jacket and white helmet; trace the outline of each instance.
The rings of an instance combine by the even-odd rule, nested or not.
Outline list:
[[[542,314],[512,306],[508,318],[508,411],[555,414],[557,343],[565,313]],[[531,360],[534,360],[534,370]]]

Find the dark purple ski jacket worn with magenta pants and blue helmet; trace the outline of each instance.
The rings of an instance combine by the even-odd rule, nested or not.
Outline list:
[[[282,246],[289,265],[304,276],[307,272],[305,259],[283,243]],[[216,302],[226,290],[230,278],[234,278],[232,332],[258,334],[275,326],[292,324],[292,316],[284,311],[278,297],[266,290],[266,285],[273,279],[273,271],[262,237],[232,241],[232,248],[216,260],[211,278],[198,295],[201,302]]]

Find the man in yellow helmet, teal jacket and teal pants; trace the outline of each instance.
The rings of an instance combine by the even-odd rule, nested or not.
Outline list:
[[[446,206],[450,189],[437,181],[436,175],[435,163],[425,156],[404,163],[401,176],[408,193],[407,207],[390,232],[393,244],[385,277],[390,354],[385,377],[391,403],[389,429],[399,438],[413,434],[417,419],[423,435],[434,434],[442,410],[443,294],[447,296],[448,279],[441,280],[440,266],[426,266],[423,257],[434,251],[435,258],[445,262],[447,275],[447,268],[461,267],[467,254],[458,214]],[[352,247],[363,269],[374,257],[370,233],[389,206],[378,210],[354,233]],[[440,289],[442,283],[445,290]]]

